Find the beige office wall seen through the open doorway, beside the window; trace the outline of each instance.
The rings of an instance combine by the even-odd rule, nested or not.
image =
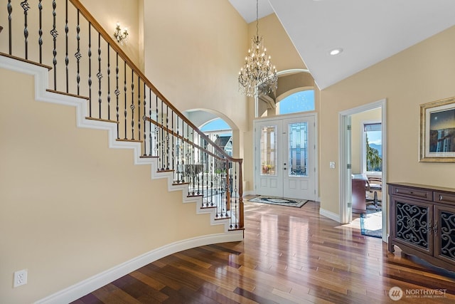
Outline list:
[[[381,109],[368,110],[360,112],[350,117],[351,125],[351,140],[350,140],[350,151],[351,151],[351,164],[353,174],[362,173],[363,159],[363,122],[380,122],[381,121]]]

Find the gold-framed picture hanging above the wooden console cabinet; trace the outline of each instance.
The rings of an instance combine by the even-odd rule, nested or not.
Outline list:
[[[420,105],[419,162],[455,162],[455,97]]]

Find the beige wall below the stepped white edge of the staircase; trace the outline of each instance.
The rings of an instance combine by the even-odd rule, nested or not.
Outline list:
[[[32,303],[155,248],[224,231],[182,204],[180,191],[163,191],[167,180],[152,181],[132,150],[110,149],[107,131],[77,128],[75,108],[34,101],[31,76],[0,69],[0,78],[0,303]],[[25,268],[28,283],[12,288]]]

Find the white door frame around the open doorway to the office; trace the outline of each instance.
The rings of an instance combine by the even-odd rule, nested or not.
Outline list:
[[[344,122],[346,117],[349,115],[357,114],[360,112],[365,112],[368,110],[373,110],[377,108],[381,108],[382,110],[382,241],[387,241],[387,231],[388,229],[388,221],[387,221],[387,108],[386,108],[386,100],[378,100],[374,103],[368,103],[367,105],[360,105],[359,107],[352,108],[349,110],[344,110],[338,113],[338,130],[340,138],[339,144],[339,159],[338,163],[340,164],[340,171],[339,171],[339,179],[340,179],[340,193],[339,193],[339,201],[340,201],[340,222],[341,224],[348,224],[350,219],[350,208],[348,207],[348,202],[346,199],[347,194],[350,192],[349,189],[351,187],[351,179],[350,179],[350,170],[348,170],[348,157],[346,154],[349,152],[350,142],[347,142],[348,136],[346,136],[346,130],[344,130]],[[387,229],[385,229],[387,228]]]

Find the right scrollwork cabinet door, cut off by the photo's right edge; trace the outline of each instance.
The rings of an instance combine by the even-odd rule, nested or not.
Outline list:
[[[455,207],[434,206],[434,256],[455,263]]]

